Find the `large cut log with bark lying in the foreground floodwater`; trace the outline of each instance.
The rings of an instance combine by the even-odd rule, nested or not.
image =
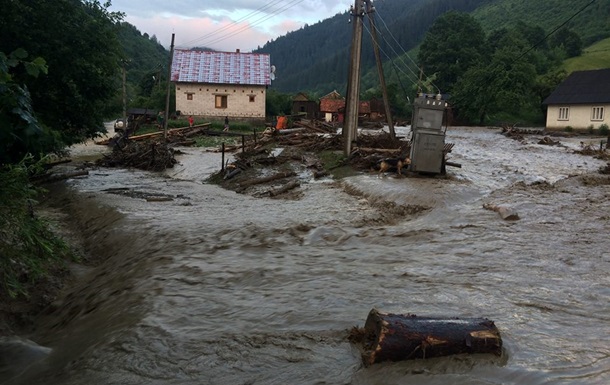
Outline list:
[[[364,330],[352,331],[351,340],[362,343],[367,366],[462,353],[502,353],[500,332],[487,318],[418,317],[373,309]]]

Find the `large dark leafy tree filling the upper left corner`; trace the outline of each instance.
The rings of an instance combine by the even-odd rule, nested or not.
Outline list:
[[[48,66],[44,78],[16,73],[40,122],[71,145],[104,131],[106,103],[116,93],[121,14],[110,3],[80,0],[3,1],[0,51],[25,49]]]

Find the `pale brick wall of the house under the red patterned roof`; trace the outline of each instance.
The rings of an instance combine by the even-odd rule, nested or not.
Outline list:
[[[265,86],[176,83],[176,110],[182,115],[264,119],[266,93]],[[216,107],[216,95],[227,97],[226,108]]]

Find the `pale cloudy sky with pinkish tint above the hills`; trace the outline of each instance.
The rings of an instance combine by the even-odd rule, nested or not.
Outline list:
[[[112,0],[111,11],[169,48],[250,52],[349,9],[353,0]],[[348,20],[346,19],[347,23]]]

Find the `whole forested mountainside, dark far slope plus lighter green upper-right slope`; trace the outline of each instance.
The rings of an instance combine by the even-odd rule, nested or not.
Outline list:
[[[407,58],[405,51],[418,47],[435,19],[451,10],[470,13],[486,34],[519,25],[540,27],[541,33],[537,36],[540,41],[532,45],[552,39],[548,36],[545,40],[545,36],[560,26],[564,31],[576,31],[580,40],[578,47],[610,36],[610,0],[384,0],[373,3],[381,56],[386,71],[392,70],[386,76],[393,79],[394,87],[399,86],[397,81],[403,83],[400,87],[409,87],[417,78],[411,72],[413,68],[406,68],[409,60],[416,58]],[[585,9],[579,12],[582,8]],[[277,67],[277,80],[272,87],[279,92],[305,91],[318,97],[334,89],[344,93],[352,36],[349,19],[347,12],[338,14],[265,44],[258,52],[271,54]],[[369,30],[365,18],[362,51],[365,90],[376,76]],[[399,72],[397,66],[401,66]]]

